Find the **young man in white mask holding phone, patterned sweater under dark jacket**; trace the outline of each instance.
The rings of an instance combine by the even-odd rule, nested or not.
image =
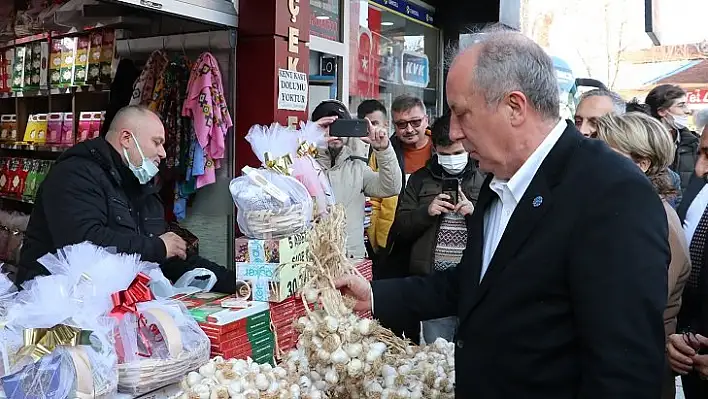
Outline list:
[[[450,140],[450,115],[438,118],[431,128],[435,149],[425,167],[408,179],[393,230],[399,232],[395,245],[410,249],[411,275],[425,276],[456,267],[467,245],[466,216],[474,210],[485,175],[479,171],[462,143]],[[443,182],[456,183],[455,196],[443,193]],[[452,341],[457,317],[423,321],[423,341],[439,337]]]

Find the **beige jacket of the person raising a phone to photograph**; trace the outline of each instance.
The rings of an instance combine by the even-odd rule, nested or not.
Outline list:
[[[379,171],[371,170],[367,159],[357,156],[344,146],[332,165],[327,149],[319,149],[317,161],[325,170],[338,204],[347,213],[347,255],[352,259],[366,257],[364,246],[365,197],[386,198],[401,192],[403,176],[398,159],[389,145],[383,151],[374,151],[379,160]]]

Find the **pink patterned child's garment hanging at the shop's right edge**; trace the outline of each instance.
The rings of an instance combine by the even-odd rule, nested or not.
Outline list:
[[[233,122],[226,107],[219,64],[210,53],[203,53],[192,66],[182,116],[192,118],[194,133],[204,150],[204,174],[197,176],[197,187],[216,181],[216,169],[225,157],[226,132]]]

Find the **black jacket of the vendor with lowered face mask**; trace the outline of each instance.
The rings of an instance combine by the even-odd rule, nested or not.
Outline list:
[[[167,230],[164,208],[152,182],[141,185],[103,138],[75,145],[54,164],[37,193],[20,253],[17,284],[48,274],[37,259],[67,245],[90,241],[159,263],[175,281],[203,267],[215,272],[217,292],[233,292],[235,276],[199,256],[165,259],[160,235]]]

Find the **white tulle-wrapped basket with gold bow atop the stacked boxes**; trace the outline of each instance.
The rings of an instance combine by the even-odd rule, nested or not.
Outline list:
[[[312,194],[294,177],[294,135],[279,125],[255,125],[246,136],[263,168],[245,170],[229,191],[239,229],[248,237],[283,238],[305,231],[312,221]]]

